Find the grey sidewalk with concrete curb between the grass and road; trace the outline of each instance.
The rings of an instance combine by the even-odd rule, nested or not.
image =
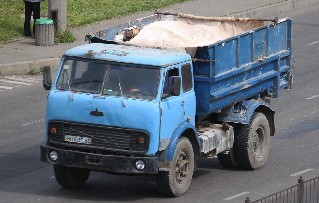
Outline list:
[[[265,18],[314,4],[319,4],[319,0],[263,0],[262,2],[256,0],[197,0],[168,6],[158,11],[173,10],[176,13],[209,17],[233,15],[234,17]],[[106,20],[96,25],[74,28],[71,31],[76,37],[76,42],[73,43],[58,43],[54,46],[40,47],[34,45],[33,38],[19,38],[9,43],[2,43],[0,44],[0,75],[26,74],[33,69],[40,71],[42,65],[56,70],[65,51],[88,43],[84,40],[85,34],[152,14],[154,11],[148,11]]]

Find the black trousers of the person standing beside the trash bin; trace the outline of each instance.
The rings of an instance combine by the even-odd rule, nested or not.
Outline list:
[[[26,18],[24,19],[24,34],[26,36],[31,36],[31,14],[33,13],[33,33],[34,33],[34,23],[36,19],[40,18],[40,2],[30,2],[25,1],[24,12]]]

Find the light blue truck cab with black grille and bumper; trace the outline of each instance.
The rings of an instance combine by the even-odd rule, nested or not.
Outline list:
[[[178,139],[177,127],[191,127],[197,141],[192,73],[184,53],[105,44],[70,49],[48,95],[41,160],[112,173],[166,170],[158,157]]]

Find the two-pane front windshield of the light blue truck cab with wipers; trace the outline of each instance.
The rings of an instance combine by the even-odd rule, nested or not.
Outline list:
[[[66,59],[56,88],[152,100],[157,95],[159,75],[159,69]]]

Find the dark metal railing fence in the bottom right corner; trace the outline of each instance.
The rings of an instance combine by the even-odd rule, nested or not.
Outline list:
[[[298,184],[251,201],[249,197],[245,203],[319,203],[319,177],[304,181],[302,176]]]

